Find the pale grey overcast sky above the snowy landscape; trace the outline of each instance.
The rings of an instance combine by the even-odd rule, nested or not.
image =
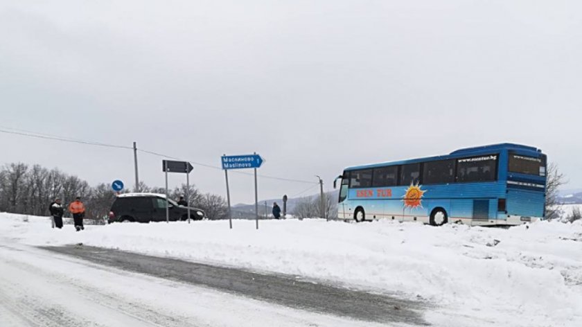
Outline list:
[[[326,189],[346,166],[515,142],[579,188],[581,58],[574,0],[0,0],[0,126],[215,166],[256,151],[260,174]],[[1,133],[0,149],[134,184],[131,150]],[[159,157],[139,173],[164,185]],[[253,202],[231,176],[233,203]],[[221,170],[191,180],[226,193]],[[259,178],[261,198],[309,187]]]

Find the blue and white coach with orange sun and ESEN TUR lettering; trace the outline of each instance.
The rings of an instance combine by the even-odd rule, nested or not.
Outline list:
[[[447,155],[349,167],[338,218],[418,221],[439,226],[516,225],[545,214],[546,155],[502,143]]]

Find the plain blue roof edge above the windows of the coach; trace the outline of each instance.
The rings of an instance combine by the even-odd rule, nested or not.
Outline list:
[[[498,143],[498,144],[491,144],[491,145],[482,145],[476,146],[474,148],[463,148],[459,150],[455,150],[450,152],[450,154],[444,154],[440,156],[434,157],[423,157],[417,159],[407,159],[407,160],[400,160],[400,161],[388,161],[382,162],[378,164],[368,164],[362,166],[351,166],[346,168],[345,170],[356,170],[356,169],[365,169],[365,168],[376,168],[382,166],[393,166],[393,165],[403,165],[403,164],[416,164],[417,162],[424,162],[424,161],[434,161],[434,160],[445,160],[445,159],[455,159],[459,157],[472,157],[477,156],[479,154],[491,154],[492,152],[499,152],[500,150],[517,150],[517,151],[524,151],[524,152],[536,152],[541,153],[542,150],[538,148],[534,148],[528,145],[521,145],[515,143]]]

